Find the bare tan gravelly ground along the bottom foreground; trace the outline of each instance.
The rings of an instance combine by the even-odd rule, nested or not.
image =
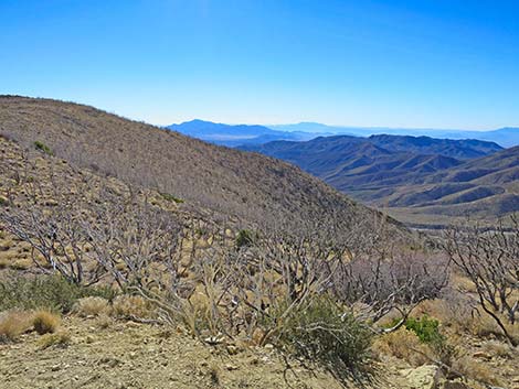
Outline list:
[[[341,388],[328,372],[285,360],[272,347],[208,346],[179,331],[134,322],[99,327],[65,317],[67,346],[23,335],[0,345],[0,388]],[[433,388],[436,369],[377,361],[367,388]],[[351,383],[351,388],[361,387]]]

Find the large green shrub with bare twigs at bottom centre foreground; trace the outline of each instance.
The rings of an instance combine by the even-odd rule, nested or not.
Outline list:
[[[371,338],[362,323],[326,295],[316,295],[298,307],[279,333],[282,345],[342,378],[364,370]]]

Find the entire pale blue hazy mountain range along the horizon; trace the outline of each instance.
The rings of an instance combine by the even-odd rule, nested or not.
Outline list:
[[[505,148],[519,145],[519,128],[502,128],[492,131],[465,131],[383,127],[358,128],[327,126],[316,122],[275,126],[232,126],[204,120],[187,121],[180,125],[171,125],[167,128],[208,142],[229,147],[263,144],[276,140],[305,141],[320,136],[333,134],[347,134],[353,137],[369,137],[372,134],[424,136],[442,139],[478,139],[496,142]]]

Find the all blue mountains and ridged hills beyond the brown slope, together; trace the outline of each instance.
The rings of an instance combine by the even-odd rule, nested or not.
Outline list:
[[[269,128],[193,120],[169,129],[290,162],[407,225],[445,226],[467,215],[489,220],[519,210],[519,147],[502,148],[519,144],[515,128]]]

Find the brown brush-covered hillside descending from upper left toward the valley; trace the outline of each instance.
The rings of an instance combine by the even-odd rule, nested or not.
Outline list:
[[[340,220],[347,229],[379,215],[296,166],[88,106],[3,96],[0,134],[29,148],[41,141],[74,165],[170,193],[244,227],[297,230]]]

